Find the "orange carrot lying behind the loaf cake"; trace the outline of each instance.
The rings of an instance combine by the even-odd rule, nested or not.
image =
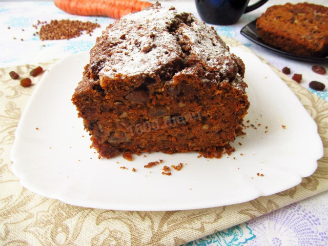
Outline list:
[[[54,3],[69,14],[108,16],[115,19],[152,5],[139,0],[54,0]]]

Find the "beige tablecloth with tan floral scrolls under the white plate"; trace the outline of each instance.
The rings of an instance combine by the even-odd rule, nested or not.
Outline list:
[[[232,38],[225,40],[251,52]],[[38,65],[47,69],[54,62]],[[35,66],[0,68],[0,245],[179,245],[328,190],[328,104],[272,67],[317,122],[323,141],[317,171],[300,185],[232,206],[170,212],[81,208],[34,194],[10,171],[14,132],[34,86],[23,88],[8,73],[25,77]]]

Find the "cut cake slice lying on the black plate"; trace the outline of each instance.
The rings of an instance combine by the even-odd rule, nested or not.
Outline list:
[[[265,43],[305,56],[328,55],[328,8],[315,4],[274,5],[257,19]]]

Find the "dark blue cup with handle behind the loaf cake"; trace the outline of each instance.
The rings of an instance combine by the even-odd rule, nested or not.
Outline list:
[[[195,0],[201,19],[215,25],[235,24],[243,13],[248,13],[269,0],[247,6],[249,0]]]

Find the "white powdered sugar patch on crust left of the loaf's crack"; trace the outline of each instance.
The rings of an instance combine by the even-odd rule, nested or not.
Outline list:
[[[117,45],[100,76],[115,78],[122,74],[150,74],[175,57],[182,54],[174,35],[168,32],[176,11],[167,8],[146,9],[122,17],[116,25],[118,30],[107,29],[107,40],[118,39],[124,35]],[[116,51],[116,52],[115,52]],[[168,52],[169,51],[169,52]],[[100,59],[106,59],[104,54]]]

